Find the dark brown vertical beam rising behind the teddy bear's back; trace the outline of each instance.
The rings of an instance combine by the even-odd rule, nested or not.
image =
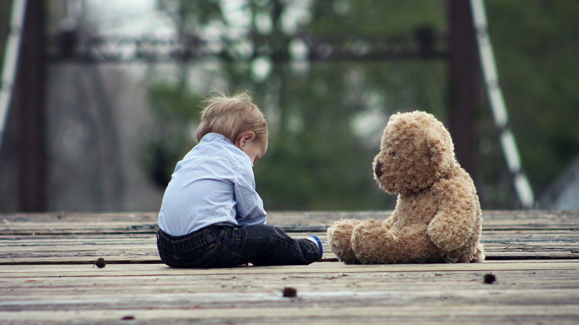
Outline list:
[[[477,45],[468,0],[449,0],[450,133],[456,158],[478,183],[476,125]]]

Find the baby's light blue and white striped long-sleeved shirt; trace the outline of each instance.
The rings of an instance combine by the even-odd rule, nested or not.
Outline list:
[[[252,168],[250,157],[225,136],[203,136],[175,167],[163,195],[159,228],[180,236],[214,224],[264,224]]]

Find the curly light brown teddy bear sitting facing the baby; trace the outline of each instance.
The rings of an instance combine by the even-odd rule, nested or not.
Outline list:
[[[374,158],[374,179],[398,194],[384,220],[342,219],[329,245],[346,264],[482,262],[482,212],[477,190],[456,161],[449,132],[433,115],[390,117]]]

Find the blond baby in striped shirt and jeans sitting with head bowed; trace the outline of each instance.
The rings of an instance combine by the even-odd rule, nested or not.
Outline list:
[[[170,267],[307,265],[317,236],[294,239],[265,224],[253,164],[267,150],[267,124],[247,94],[216,97],[201,112],[197,144],[177,163],[159,212],[157,248]]]

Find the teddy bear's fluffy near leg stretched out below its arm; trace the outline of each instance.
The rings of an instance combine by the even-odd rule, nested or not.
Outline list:
[[[426,263],[442,257],[426,225],[398,229],[382,221],[364,221],[354,228],[352,248],[362,264]]]

